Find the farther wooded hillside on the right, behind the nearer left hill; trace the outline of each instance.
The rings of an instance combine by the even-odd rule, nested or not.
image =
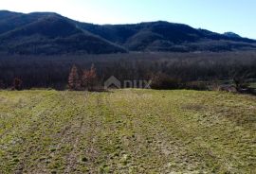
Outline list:
[[[256,41],[164,21],[82,28],[133,51],[232,51],[256,48]]]

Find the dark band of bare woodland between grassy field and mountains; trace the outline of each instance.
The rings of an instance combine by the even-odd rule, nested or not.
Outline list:
[[[111,76],[120,81],[152,80],[155,89],[204,89],[201,81],[256,78],[256,53],[131,53],[54,57],[0,55],[0,88],[4,89],[92,90],[92,86],[102,85]]]

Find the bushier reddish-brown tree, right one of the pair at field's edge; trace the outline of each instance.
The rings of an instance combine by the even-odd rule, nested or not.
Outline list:
[[[94,91],[97,83],[97,73],[94,64],[91,65],[90,70],[84,70],[82,74],[82,86],[89,90]]]

